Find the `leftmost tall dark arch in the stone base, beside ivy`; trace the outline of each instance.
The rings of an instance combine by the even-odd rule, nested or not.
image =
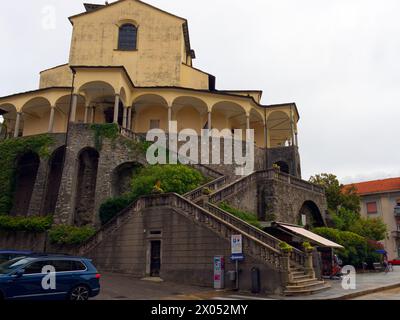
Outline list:
[[[29,204],[39,165],[39,155],[32,151],[23,154],[17,159],[14,206],[11,210],[11,215],[27,216],[29,214]]]

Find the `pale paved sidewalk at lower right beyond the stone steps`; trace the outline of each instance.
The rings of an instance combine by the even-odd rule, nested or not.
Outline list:
[[[341,280],[327,280],[332,286],[331,289],[301,297],[274,297],[284,300],[346,300],[362,295],[375,293],[382,290],[400,287],[400,266],[394,266],[394,271],[385,274],[380,273],[359,273],[356,276],[356,290],[344,290]]]

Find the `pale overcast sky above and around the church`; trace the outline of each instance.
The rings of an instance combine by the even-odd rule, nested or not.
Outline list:
[[[218,89],[296,102],[304,178],[400,176],[400,1],[147,2],[189,20],[195,67],[215,75]],[[82,3],[1,4],[0,96],[36,89],[39,71],[68,61],[67,17]],[[52,10],[54,28],[44,19]]]

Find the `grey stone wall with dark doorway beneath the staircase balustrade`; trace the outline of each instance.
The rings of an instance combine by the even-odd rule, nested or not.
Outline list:
[[[151,234],[161,231],[161,234]],[[213,286],[213,257],[222,255],[226,272],[235,269],[230,262],[230,241],[208,228],[194,223],[171,208],[151,208],[134,215],[111,237],[104,239],[89,256],[102,271],[149,275],[151,240],[161,240],[161,278],[173,282]],[[251,289],[251,269],[260,269],[262,291],[279,293],[280,272],[250,256],[240,264],[240,288]],[[234,283],[226,279],[226,287]]]

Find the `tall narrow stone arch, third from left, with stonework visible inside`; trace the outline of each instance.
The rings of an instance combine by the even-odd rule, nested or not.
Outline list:
[[[99,153],[93,148],[85,148],[79,153],[74,212],[76,226],[94,223],[99,157]]]

